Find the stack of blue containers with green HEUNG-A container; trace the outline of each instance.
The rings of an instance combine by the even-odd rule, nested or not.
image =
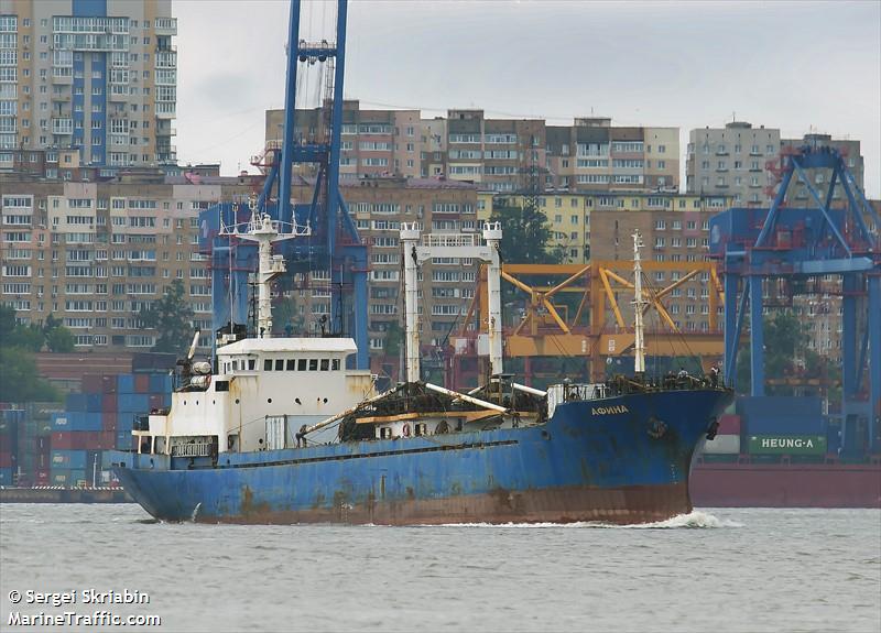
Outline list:
[[[830,449],[833,432],[819,397],[742,399],[738,413],[746,421],[743,452],[753,462],[775,463],[784,456],[791,461],[816,462]]]

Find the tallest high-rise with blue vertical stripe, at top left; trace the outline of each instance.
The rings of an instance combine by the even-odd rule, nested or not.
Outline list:
[[[175,165],[171,0],[0,0],[0,170],[13,150],[79,164]]]

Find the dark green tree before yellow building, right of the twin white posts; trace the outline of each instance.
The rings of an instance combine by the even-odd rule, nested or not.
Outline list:
[[[562,249],[547,249],[551,240],[547,217],[533,204],[527,203],[522,208],[513,205],[496,206],[490,221],[501,222],[502,262],[558,264],[563,261]]]

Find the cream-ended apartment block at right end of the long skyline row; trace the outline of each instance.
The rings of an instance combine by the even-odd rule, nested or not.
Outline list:
[[[678,128],[612,127],[611,119],[548,125],[546,188],[677,192]]]

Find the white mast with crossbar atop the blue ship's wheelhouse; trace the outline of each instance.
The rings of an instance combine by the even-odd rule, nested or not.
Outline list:
[[[286,271],[283,255],[272,254],[273,242],[282,240],[290,240],[308,236],[312,230],[308,226],[297,227],[292,226],[292,232],[281,233],[279,229],[282,222],[273,220],[269,214],[261,214],[255,208],[254,203],[251,204],[251,221],[248,222],[247,232],[239,232],[238,227],[220,226],[220,234],[236,236],[242,240],[257,242],[258,245],[258,262],[259,268],[257,272],[257,336],[260,338],[272,337],[272,294],[271,283],[280,274]],[[230,280],[230,283],[232,281]],[[232,306],[229,306],[230,314]]]

